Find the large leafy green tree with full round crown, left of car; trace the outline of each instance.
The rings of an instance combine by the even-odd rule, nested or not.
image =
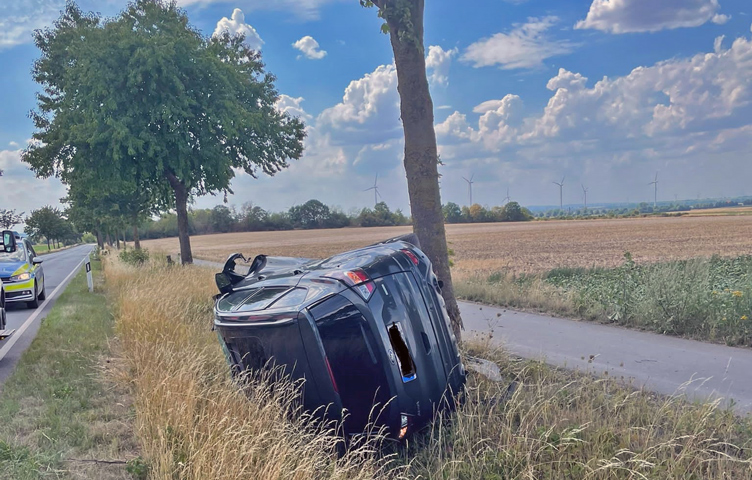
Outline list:
[[[303,124],[275,108],[259,53],[242,36],[202,36],[175,2],[137,0],[111,20],[69,2],[35,43],[44,91],[24,160],[40,176],[90,170],[171,203],[183,263],[191,196],[231,193],[234,169],[274,175],[302,154]]]

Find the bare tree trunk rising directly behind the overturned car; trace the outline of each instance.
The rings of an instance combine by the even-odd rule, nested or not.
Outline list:
[[[394,0],[378,2],[393,6]],[[405,171],[410,195],[413,231],[421,249],[433,263],[436,276],[444,282],[442,296],[446,302],[454,334],[461,339],[462,317],[454,298],[449,270],[444,215],[439,190],[439,156],[433,127],[433,101],[428,90],[423,48],[423,0],[412,0],[410,20],[413,32],[400,38],[399,19],[387,19],[397,66],[397,90],[400,95],[402,128],[405,132]]]

